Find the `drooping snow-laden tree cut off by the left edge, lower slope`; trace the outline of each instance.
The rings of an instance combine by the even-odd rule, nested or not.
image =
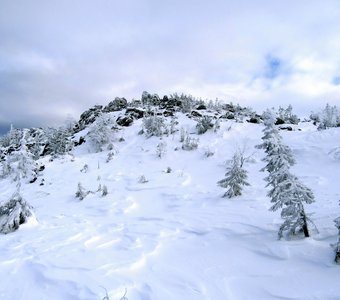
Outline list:
[[[34,216],[33,208],[17,191],[5,203],[0,205],[0,233],[10,233],[19,228],[21,224]]]

